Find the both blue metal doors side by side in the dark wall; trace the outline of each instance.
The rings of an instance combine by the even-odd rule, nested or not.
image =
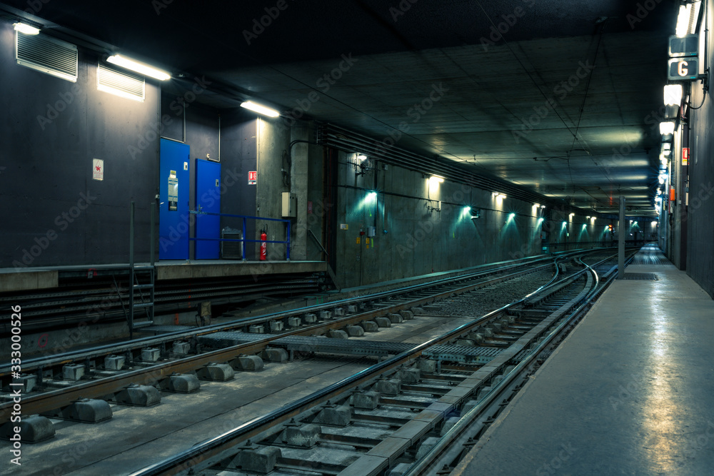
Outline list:
[[[159,259],[187,260],[191,226],[196,238],[196,259],[220,258],[221,164],[190,160],[191,148],[181,142],[161,139]],[[189,170],[191,166],[192,170]],[[190,208],[191,172],[195,173],[193,212]],[[195,220],[191,219],[191,216]]]

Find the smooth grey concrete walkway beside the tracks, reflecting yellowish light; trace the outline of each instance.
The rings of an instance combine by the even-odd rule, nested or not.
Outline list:
[[[451,475],[714,474],[714,301],[638,254]]]

